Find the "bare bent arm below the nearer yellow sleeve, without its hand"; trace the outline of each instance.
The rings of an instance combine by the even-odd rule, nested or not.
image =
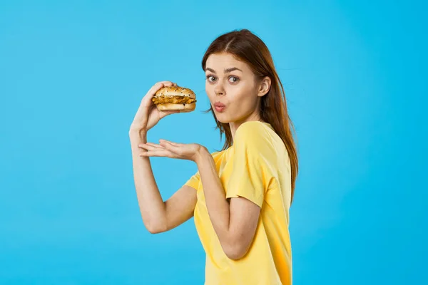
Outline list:
[[[226,199],[212,155],[201,147],[195,160],[205,194],[205,203],[223,251],[230,259],[243,257],[255,235],[260,207],[248,199]]]

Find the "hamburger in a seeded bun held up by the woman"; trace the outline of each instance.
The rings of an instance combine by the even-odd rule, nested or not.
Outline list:
[[[152,98],[160,111],[180,110],[180,113],[192,112],[196,108],[196,95],[189,88],[165,86]]]

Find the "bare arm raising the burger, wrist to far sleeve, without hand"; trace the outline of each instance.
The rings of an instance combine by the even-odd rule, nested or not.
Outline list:
[[[150,158],[141,157],[141,143],[147,142],[146,133],[131,130],[129,133],[133,159],[133,175],[138,205],[143,223],[149,232],[166,232],[193,217],[196,204],[196,190],[184,185],[166,202],[156,185]]]

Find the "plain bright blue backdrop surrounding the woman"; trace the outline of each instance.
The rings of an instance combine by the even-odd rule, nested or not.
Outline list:
[[[1,1],[0,283],[203,284],[193,219],[163,234],[143,227],[128,129],[146,91],[174,81],[195,90],[197,108],[148,140],[220,149],[200,61],[221,33],[249,28],[270,48],[297,129],[294,284],[427,284],[424,11],[422,1]],[[165,199],[196,171],[151,161]]]

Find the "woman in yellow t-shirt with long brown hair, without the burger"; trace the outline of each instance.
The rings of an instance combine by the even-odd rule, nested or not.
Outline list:
[[[157,90],[175,83],[153,86],[130,130],[143,222],[158,233],[194,217],[206,252],[207,285],[292,284],[288,224],[297,151],[270,52],[250,31],[232,31],[211,43],[202,67],[225,145],[210,154],[195,143],[147,142],[147,131],[176,113],[158,112],[151,103]],[[149,157],[191,160],[198,172],[163,202]]]

